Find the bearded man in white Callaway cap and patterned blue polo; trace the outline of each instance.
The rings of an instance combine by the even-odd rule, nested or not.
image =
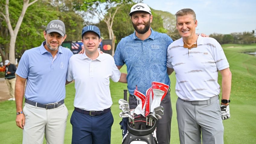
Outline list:
[[[135,31],[118,43],[114,59],[118,69],[124,64],[127,66],[129,104],[130,109],[134,109],[137,106],[137,100],[133,96],[136,85],[145,95],[153,81],[170,85],[166,55],[167,47],[173,40],[167,34],[158,33],[150,27],[153,15],[148,5],[133,5],[129,15]],[[157,122],[156,137],[158,143],[169,144],[172,117],[169,91],[160,105],[164,107],[165,114]]]

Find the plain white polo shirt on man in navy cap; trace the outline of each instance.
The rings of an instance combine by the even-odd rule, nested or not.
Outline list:
[[[74,106],[95,111],[111,107],[109,78],[118,82],[120,75],[114,58],[109,54],[99,53],[95,60],[85,53],[73,55],[69,59],[67,81],[75,80]]]

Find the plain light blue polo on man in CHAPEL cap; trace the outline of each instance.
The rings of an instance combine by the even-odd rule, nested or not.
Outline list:
[[[21,56],[16,74],[27,78],[25,98],[40,104],[61,101],[66,96],[66,74],[71,50],[59,47],[57,57],[53,56],[43,46],[26,50]]]

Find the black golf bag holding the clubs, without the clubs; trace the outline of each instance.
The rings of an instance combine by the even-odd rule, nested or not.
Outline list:
[[[145,117],[135,117],[134,123],[127,124],[122,144],[157,144],[155,128],[156,123],[147,128]]]

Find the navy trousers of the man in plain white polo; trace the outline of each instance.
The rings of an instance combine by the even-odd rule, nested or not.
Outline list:
[[[111,111],[90,116],[74,110],[70,118],[72,144],[110,144],[113,122]]]

